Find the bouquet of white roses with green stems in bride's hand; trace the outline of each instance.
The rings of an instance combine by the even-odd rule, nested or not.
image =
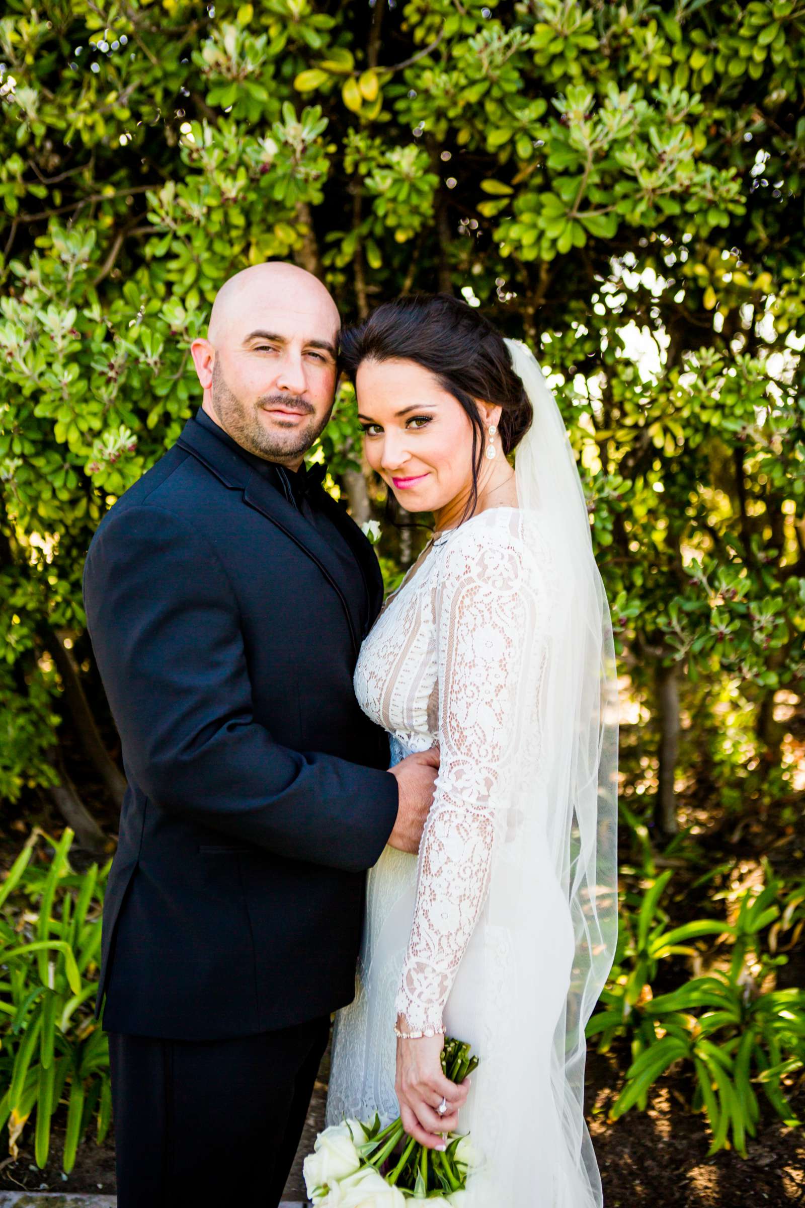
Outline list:
[[[463,1082],[478,1058],[469,1045],[448,1036],[442,1069],[451,1082]],[[406,1136],[397,1117],[385,1128],[345,1120],[316,1137],[304,1160],[304,1181],[316,1208],[403,1208],[406,1198],[438,1200],[457,1208],[465,1196],[467,1172],[477,1155],[467,1137],[451,1133],[442,1152]]]

